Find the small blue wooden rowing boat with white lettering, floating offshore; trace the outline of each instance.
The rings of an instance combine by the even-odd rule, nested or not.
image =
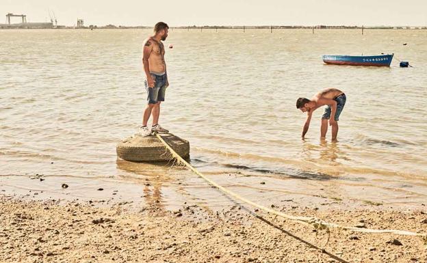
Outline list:
[[[378,56],[343,56],[343,55],[323,55],[326,64],[350,65],[350,66],[386,66],[389,67],[393,55]]]

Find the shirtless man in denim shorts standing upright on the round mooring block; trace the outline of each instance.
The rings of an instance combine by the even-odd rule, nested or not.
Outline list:
[[[164,101],[166,87],[168,87],[168,74],[164,61],[164,45],[161,41],[168,37],[168,25],[159,22],[154,26],[154,36],[144,40],[142,64],[146,75],[145,88],[148,94],[148,105],[144,111],[142,126],[138,132],[140,136],[150,136],[153,131],[168,133],[169,131],[159,125],[160,103]],[[153,115],[153,126],[148,128],[147,122]]]

